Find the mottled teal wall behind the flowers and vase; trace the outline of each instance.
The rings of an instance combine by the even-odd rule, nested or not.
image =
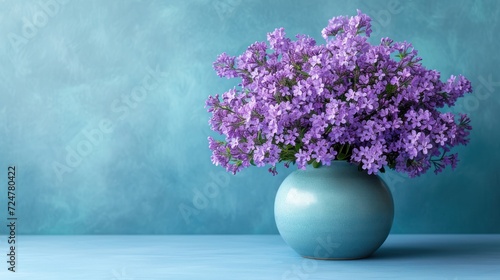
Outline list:
[[[233,81],[212,62],[266,33],[322,42],[328,19],[361,9],[474,94],[455,171],[384,175],[395,233],[500,233],[500,2],[0,1],[0,182],[17,167],[22,234],[277,233],[273,203],[293,170],[236,176],[212,166],[204,100]],[[6,188],[6,187],[5,187]],[[7,215],[0,191],[0,218]],[[0,230],[3,234],[5,229]]]

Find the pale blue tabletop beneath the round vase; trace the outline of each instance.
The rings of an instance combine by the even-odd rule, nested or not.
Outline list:
[[[0,279],[500,279],[500,235],[390,235],[370,258],[311,260],[279,235],[17,236]],[[5,241],[5,242],[4,242]]]

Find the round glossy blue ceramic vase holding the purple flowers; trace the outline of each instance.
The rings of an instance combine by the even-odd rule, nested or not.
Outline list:
[[[276,194],[274,215],[285,242],[303,257],[359,259],[384,243],[394,203],[378,176],[333,161],[288,175]]]

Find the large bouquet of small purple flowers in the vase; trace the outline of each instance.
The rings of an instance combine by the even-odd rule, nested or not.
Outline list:
[[[456,145],[472,129],[465,114],[441,112],[472,91],[463,76],[446,82],[420,63],[407,42],[383,38],[371,45],[370,18],[334,17],[321,32],[326,40],[283,28],[267,34],[238,57],[221,54],[220,77],[238,78],[238,88],[210,96],[212,162],[235,174],[250,165],[297,164],[305,169],[347,160],[369,174],[385,166],[415,177],[431,166],[455,168]]]

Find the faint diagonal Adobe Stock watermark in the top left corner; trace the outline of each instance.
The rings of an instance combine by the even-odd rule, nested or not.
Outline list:
[[[21,32],[9,32],[7,39],[9,40],[12,48],[19,52],[29,40],[33,39],[40,29],[47,26],[49,19],[59,14],[59,11],[69,0],[42,0],[36,5],[36,11],[30,17],[23,17],[21,19]]]

